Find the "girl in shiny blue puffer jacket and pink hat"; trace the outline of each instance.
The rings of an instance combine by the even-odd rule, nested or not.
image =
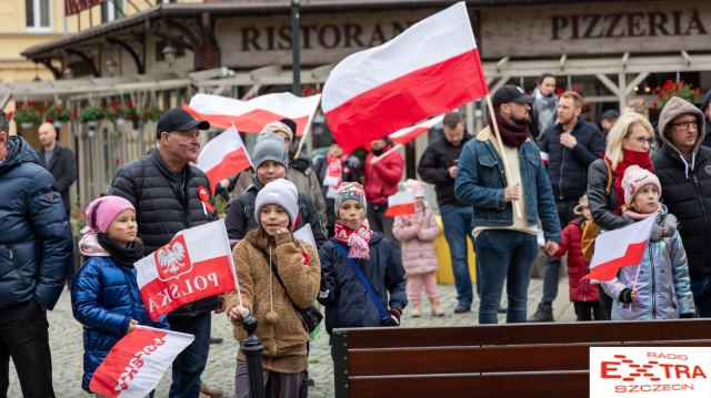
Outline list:
[[[93,373],[123,336],[137,325],[169,327],[151,320],[138,288],[133,263],[143,257],[143,246],[133,205],[119,196],[100,197],[87,207],[87,225],[92,232],[79,242],[87,261],[71,285],[71,304],[84,329],[81,388],[91,392]]]

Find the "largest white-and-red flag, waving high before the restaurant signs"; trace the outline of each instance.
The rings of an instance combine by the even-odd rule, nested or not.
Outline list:
[[[333,139],[350,153],[488,93],[462,1],[346,58],[326,81],[321,106]]]

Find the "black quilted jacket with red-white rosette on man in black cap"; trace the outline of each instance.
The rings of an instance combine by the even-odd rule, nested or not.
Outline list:
[[[110,194],[127,198],[136,207],[138,233],[143,239],[144,253],[149,255],[180,231],[218,220],[217,211],[206,214],[198,197],[201,186],[208,190],[212,200],[210,182],[201,170],[187,164],[182,173],[176,173],[156,150],[119,169]],[[218,296],[206,297],[186,304],[170,315],[194,316],[217,309],[218,305]]]

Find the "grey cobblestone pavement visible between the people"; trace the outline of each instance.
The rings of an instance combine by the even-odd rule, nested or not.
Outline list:
[[[402,317],[403,326],[428,327],[477,324],[477,306],[472,307],[471,313],[461,315],[454,315],[452,313],[457,306],[454,285],[439,285],[439,288],[440,302],[447,310],[447,315],[443,317],[430,316],[429,304],[423,303],[423,316],[420,318],[412,318],[409,308],[405,308]],[[535,310],[541,294],[542,279],[531,279],[529,287],[529,315]],[[478,299],[475,304],[479,304]],[[568,279],[564,277],[560,280],[558,299],[553,303],[553,308],[558,322],[575,320],[573,306],[568,300]],[[69,292],[64,290],[57,307],[49,313],[48,318],[50,324],[50,344],[52,347],[54,391],[57,397],[89,397],[89,395],[81,389],[83,355],[81,326],[71,315]],[[499,322],[504,323],[505,315],[500,315]],[[222,388],[226,397],[234,397],[234,365],[239,346],[232,337],[232,327],[223,314],[213,315],[212,336],[222,337],[224,341],[210,346],[210,357],[203,374],[203,381],[211,387]],[[310,374],[316,381],[316,387],[310,388],[309,396],[317,398],[333,397],[333,364],[331,361],[328,334],[326,330],[322,330],[316,341],[312,343],[309,363]],[[169,387],[170,369],[158,386],[156,397],[168,397]],[[17,375],[14,375],[14,368],[11,367],[8,397],[21,396],[22,394],[17,381]]]

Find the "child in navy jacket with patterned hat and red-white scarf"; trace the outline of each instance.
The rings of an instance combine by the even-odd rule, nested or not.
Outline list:
[[[361,184],[339,186],[336,234],[319,251],[319,303],[326,307],[329,335],[338,327],[399,326],[408,305],[400,256],[390,241],[370,229],[367,210]]]

